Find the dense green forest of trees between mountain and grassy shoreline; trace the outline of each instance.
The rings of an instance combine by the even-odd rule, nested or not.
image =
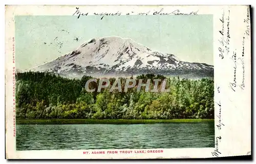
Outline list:
[[[166,78],[166,87],[170,92],[137,92],[136,87],[130,88],[128,92],[109,92],[108,87],[101,92],[89,93],[84,87],[90,78],[92,77],[83,76],[81,79],[69,79],[40,72],[17,73],[16,118],[214,118],[213,79]],[[141,78],[146,81],[165,77],[154,74],[136,77]],[[110,81],[113,84],[115,78]],[[122,82],[122,87],[123,85]]]

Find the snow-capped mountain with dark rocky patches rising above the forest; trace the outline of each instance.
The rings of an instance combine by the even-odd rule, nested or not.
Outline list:
[[[153,51],[131,39],[103,37],[91,39],[76,50],[31,71],[61,75],[188,75],[213,77],[214,66],[179,60],[174,54]]]

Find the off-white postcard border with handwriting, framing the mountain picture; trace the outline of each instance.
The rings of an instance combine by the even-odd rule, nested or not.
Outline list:
[[[83,13],[93,14],[94,12],[122,14],[129,13],[135,15],[138,13],[148,13],[160,11],[175,11],[179,13],[197,12],[197,14],[212,14],[214,17],[214,66],[215,66],[215,137],[218,145],[215,148],[184,148],[184,149],[155,149],[163,150],[163,153],[145,153],[145,154],[83,154],[83,151],[92,150],[38,150],[38,151],[16,151],[15,129],[15,80],[13,81],[13,70],[15,70],[15,15],[72,15],[75,8]],[[88,159],[88,158],[205,158],[221,157],[251,154],[251,42],[250,42],[250,20],[249,35],[245,19],[247,19],[249,6],[6,6],[6,157],[7,158],[25,158],[25,159],[43,159],[43,158],[71,158],[71,159]],[[132,13],[134,11],[134,13]],[[229,14],[229,53],[220,55],[220,43],[222,30],[222,14],[224,14],[224,39],[227,38],[227,13]],[[178,16],[178,15],[177,15]],[[250,17],[250,15],[249,15]],[[74,19],[76,19],[74,17]],[[239,85],[242,84],[243,70],[242,63],[239,62],[242,54],[242,38],[244,41],[244,89]],[[13,38],[14,37],[14,38]],[[14,46],[13,46],[14,45]],[[224,45],[225,47],[225,45]],[[13,54],[14,49],[14,54]],[[234,61],[232,55],[236,52],[236,91],[230,88],[234,78]],[[223,57],[223,59],[222,59]],[[13,63],[14,59],[14,63]],[[240,59],[241,60],[241,59]],[[14,86],[13,86],[14,85]],[[14,98],[14,100],[13,100]],[[220,103],[219,103],[220,102]],[[219,104],[218,104],[219,103]],[[221,105],[221,117],[220,113]],[[221,129],[217,125],[223,125]],[[221,139],[220,139],[221,138]],[[216,142],[216,144],[217,144]],[[217,149],[216,149],[217,148]],[[125,149],[121,149],[125,150]],[[141,150],[141,149],[126,149]],[[143,149],[151,150],[151,149]],[[153,150],[153,149],[152,149]],[[97,150],[93,150],[97,151]],[[102,150],[101,150],[102,151]],[[108,151],[108,150],[105,150]],[[216,154],[216,151],[220,152]],[[214,154],[212,154],[214,153]]]

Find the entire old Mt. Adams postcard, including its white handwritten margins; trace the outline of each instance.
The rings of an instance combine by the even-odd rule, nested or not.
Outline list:
[[[250,6],[5,6],[7,159],[251,155]]]

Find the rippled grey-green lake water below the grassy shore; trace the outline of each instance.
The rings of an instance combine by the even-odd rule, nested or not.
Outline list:
[[[17,150],[214,147],[214,122],[17,125]]]

